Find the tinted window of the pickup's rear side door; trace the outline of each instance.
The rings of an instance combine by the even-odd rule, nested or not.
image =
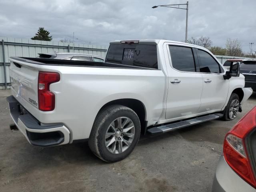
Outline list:
[[[172,67],[184,72],[196,72],[192,48],[182,46],[169,46]]]

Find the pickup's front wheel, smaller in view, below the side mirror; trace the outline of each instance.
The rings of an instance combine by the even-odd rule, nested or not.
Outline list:
[[[236,93],[232,93],[228,101],[228,104],[224,110],[223,119],[226,121],[230,121],[236,118],[239,110],[239,105],[240,102],[238,95]]]

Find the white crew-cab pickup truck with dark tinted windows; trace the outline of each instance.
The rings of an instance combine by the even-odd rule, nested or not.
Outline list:
[[[10,58],[10,114],[30,144],[88,139],[106,162],[128,156],[140,134],[232,120],[252,94],[239,67],[169,40],[111,42],[105,62]]]

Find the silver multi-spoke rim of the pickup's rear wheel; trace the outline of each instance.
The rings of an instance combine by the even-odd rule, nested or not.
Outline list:
[[[105,134],[105,146],[112,154],[127,150],[134,140],[135,127],[128,117],[118,117],[108,126]]]

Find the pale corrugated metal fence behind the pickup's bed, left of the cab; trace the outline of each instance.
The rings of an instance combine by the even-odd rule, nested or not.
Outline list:
[[[72,43],[0,37],[0,89],[10,88],[10,56],[37,57],[38,53],[75,52],[98,55],[104,58],[107,50],[108,46],[104,45],[74,43],[73,48]]]

